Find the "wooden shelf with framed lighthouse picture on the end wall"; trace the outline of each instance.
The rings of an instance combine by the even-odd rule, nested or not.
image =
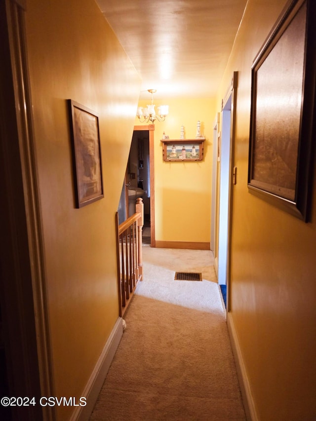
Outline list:
[[[162,159],[169,162],[201,161],[204,155],[204,138],[161,139]]]

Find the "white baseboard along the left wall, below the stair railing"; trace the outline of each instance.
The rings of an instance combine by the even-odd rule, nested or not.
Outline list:
[[[104,383],[105,377],[114,358],[118,344],[123,334],[123,319],[118,317],[116,324],[110,334],[107,343],[98,359],[90,379],[86,384],[81,396],[86,397],[86,406],[76,407],[70,421],[87,421],[93,411],[94,405],[98,399],[100,390]]]

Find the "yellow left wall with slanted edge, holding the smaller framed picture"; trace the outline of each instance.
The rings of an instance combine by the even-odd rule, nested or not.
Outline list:
[[[95,1],[27,6],[54,393],[80,397],[118,319],[115,212],[140,80]],[[68,98],[99,115],[105,198],[81,209]],[[70,411],[59,408],[58,419]]]

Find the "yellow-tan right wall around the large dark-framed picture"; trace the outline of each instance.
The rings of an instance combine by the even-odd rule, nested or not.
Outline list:
[[[316,417],[315,183],[308,224],[247,189],[251,65],[285,2],[248,1],[218,96],[238,71],[231,314],[262,421]]]

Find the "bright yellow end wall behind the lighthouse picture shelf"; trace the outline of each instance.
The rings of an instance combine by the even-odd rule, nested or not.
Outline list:
[[[211,181],[213,153],[213,120],[215,99],[155,100],[157,106],[167,103],[169,115],[155,124],[155,222],[157,241],[210,241]],[[145,107],[149,101],[141,101]],[[195,138],[197,121],[201,122],[204,159],[198,162],[163,162],[163,132],[179,139],[181,125],[185,137]],[[139,125],[135,119],[135,125]]]

